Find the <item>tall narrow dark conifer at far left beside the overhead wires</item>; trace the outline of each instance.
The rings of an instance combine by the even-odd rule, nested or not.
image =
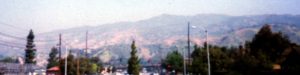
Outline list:
[[[27,45],[25,49],[25,63],[35,64],[36,49],[34,48],[34,34],[30,30],[29,35],[27,36]]]

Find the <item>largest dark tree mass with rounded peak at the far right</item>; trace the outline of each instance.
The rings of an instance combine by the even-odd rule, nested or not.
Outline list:
[[[281,65],[282,72],[297,72],[300,57],[297,45],[283,36],[281,32],[272,32],[271,25],[264,25],[252,41],[245,43],[245,54],[235,57],[233,69],[244,75],[275,73],[274,64]],[[293,67],[293,68],[292,68]],[[285,73],[287,74],[287,73]]]

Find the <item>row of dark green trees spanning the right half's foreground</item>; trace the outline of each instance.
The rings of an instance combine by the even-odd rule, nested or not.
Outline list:
[[[272,32],[269,25],[263,26],[252,41],[239,47],[209,45],[211,72],[228,75],[261,75],[299,73],[300,46],[291,42],[281,32]],[[206,43],[194,46],[188,73],[207,75]],[[163,67],[183,72],[182,56],[177,52],[167,55]],[[175,63],[176,62],[176,63]],[[169,65],[169,66],[164,66]]]

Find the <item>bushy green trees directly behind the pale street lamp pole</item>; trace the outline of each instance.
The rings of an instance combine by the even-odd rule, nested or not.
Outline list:
[[[204,47],[195,46],[192,53],[192,72],[194,74],[207,74],[207,50],[206,43]],[[209,45],[210,64],[212,74],[224,74],[230,70],[230,65],[233,63],[229,58],[229,53],[226,53],[226,48]]]

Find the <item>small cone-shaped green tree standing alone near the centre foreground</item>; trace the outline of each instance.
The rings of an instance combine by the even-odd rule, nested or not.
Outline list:
[[[140,72],[140,65],[139,65],[139,58],[136,55],[137,50],[135,46],[135,41],[131,44],[131,52],[130,52],[130,58],[128,60],[128,69],[127,72],[132,75],[139,75]]]

